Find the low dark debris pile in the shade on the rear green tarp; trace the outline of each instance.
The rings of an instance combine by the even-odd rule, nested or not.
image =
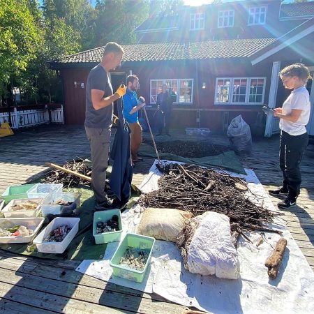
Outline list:
[[[144,140],[145,143],[153,146],[151,140]],[[167,141],[156,142],[159,153],[171,153],[186,158],[200,158],[205,156],[216,156],[224,151],[232,150],[230,147],[212,144],[210,141],[188,142],[188,141]]]

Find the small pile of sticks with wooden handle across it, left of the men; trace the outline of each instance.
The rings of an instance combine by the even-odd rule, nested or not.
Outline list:
[[[62,165],[65,170],[70,170],[83,176],[90,177],[91,168],[84,162],[83,159],[73,159],[67,161],[66,164]],[[49,184],[63,184],[64,188],[75,188],[81,184],[90,184],[91,182],[87,179],[77,177],[76,175],[66,173],[62,170],[50,170],[45,175],[43,183]]]

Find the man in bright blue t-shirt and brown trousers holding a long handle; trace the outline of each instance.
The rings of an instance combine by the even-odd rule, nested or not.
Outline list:
[[[128,122],[131,130],[131,156],[132,165],[143,158],[137,157],[137,151],[142,143],[142,128],[138,121],[138,110],[144,107],[145,103],[141,103],[137,99],[136,90],[138,89],[138,77],[136,75],[128,75],[126,77],[126,94],[124,100],[124,119]]]

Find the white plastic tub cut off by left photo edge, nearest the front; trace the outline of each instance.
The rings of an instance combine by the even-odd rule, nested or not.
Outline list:
[[[29,243],[36,237],[37,232],[43,225],[45,218],[0,218],[0,228],[14,227],[15,225],[24,225],[33,230],[33,234],[27,237],[0,237],[0,244],[9,243]]]

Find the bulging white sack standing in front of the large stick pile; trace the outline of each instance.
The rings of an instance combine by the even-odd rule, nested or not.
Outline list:
[[[239,278],[238,253],[232,244],[229,218],[207,211],[194,219],[198,226],[188,248],[188,270],[205,276]]]

